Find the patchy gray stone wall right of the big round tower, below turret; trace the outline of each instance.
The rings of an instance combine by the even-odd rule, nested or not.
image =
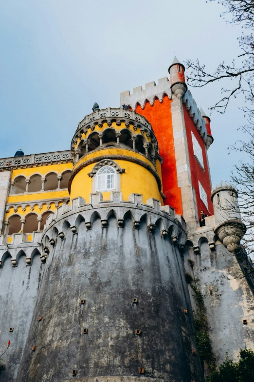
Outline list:
[[[188,259],[194,261],[193,271]],[[234,278],[236,268],[239,269],[235,256],[221,243],[210,248],[208,240],[200,235],[199,253],[195,254],[189,246],[184,266],[193,272],[202,293],[217,364],[225,361],[226,352],[237,361],[241,348],[254,349],[254,296],[245,278]],[[191,288],[190,294],[194,295]],[[195,306],[193,296],[192,305]],[[247,324],[243,324],[244,319]]]

